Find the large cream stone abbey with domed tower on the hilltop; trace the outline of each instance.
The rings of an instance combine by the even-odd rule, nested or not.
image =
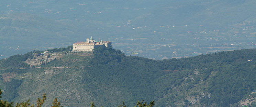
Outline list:
[[[90,39],[87,38],[86,42],[77,42],[73,43],[73,50],[72,51],[92,51],[94,48],[97,47],[109,47],[112,46],[111,41],[100,41],[96,42],[91,37]]]

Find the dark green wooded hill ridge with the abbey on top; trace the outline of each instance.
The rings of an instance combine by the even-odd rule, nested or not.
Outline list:
[[[155,101],[156,107],[255,106],[256,49],[153,60],[113,48],[33,51],[0,60],[2,99],[64,107]],[[131,104],[131,105],[130,105]]]

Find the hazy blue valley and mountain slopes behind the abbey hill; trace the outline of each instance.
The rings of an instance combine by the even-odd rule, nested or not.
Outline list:
[[[254,0],[0,1],[0,58],[92,36],[153,59],[255,48]]]

